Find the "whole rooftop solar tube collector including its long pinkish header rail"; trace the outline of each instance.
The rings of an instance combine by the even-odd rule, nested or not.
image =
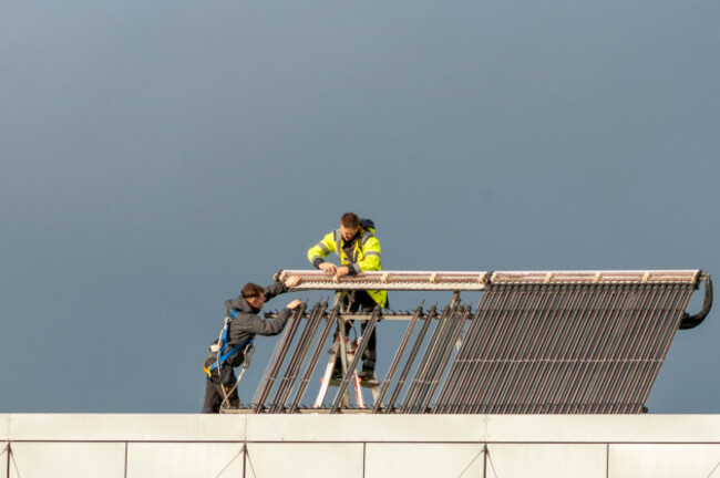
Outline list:
[[[434,306],[426,315],[422,306],[413,315],[383,314],[383,319],[412,320],[371,411],[413,414],[641,413],[675,331],[687,316],[683,311],[692,292],[703,277],[709,285],[709,276],[699,270],[378,271],[348,280],[332,279],[320,271],[281,271],[279,277],[294,276],[300,276],[302,282],[292,290],[483,291],[472,314],[470,308],[456,306],[454,299],[440,318]],[[706,289],[706,299],[708,293],[711,298],[711,290]],[[275,401],[265,407],[264,401],[298,330],[297,324],[288,325],[256,394],[254,413],[298,412],[332,319],[326,322],[294,401],[287,408],[285,402],[310,349],[308,341],[316,335],[321,316],[327,316],[326,306],[327,301],[305,314],[311,323],[301,334],[300,350],[292,354]],[[299,312],[294,319],[302,315]],[[333,310],[336,315],[340,321],[370,318],[367,313],[341,314],[338,308]],[[424,323],[411,346],[421,319]],[[467,320],[470,325],[463,334]],[[435,330],[423,350],[432,323]],[[390,393],[408,347],[410,355]],[[413,370],[421,352],[420,364]],[[410,388],[395,406],[407,381]],[[391,397],[383,407],[387,394]],[[338,411],[336,399],[331,412]]]

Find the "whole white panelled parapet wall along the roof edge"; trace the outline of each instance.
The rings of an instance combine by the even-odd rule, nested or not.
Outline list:
[[[0,477],[716,477],[718,415],[0,415]]]

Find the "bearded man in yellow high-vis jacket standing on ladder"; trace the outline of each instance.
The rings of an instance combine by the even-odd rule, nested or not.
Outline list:
[[[340,266],[326,262],[325,259],[335,252]],[[360,272],[382,270],[380,261],[380,241],[374,235],[374,224],[370,219],[360,219],[354,212],[346,212],[340,218],[340,228],[327,233],[320,242],[308,250],[308,260],[316,268],[338,278],[356,276]],[[348,298],[350,297],[350,299]],[[363,311],[372,311],[376,305],[388,306],[388,292],[384,290],[356,290],[346,295],[350,311],[357,312],[360,306]],[[354,295],[354,298],[352,298]],[[348,323],[348,329],[350,328]],[[364,334],[366,323],[362,323]],[[373,331],[368,337],[368,347],[362,354],[362,380],[374,378],[377,361],[377,336]]]

